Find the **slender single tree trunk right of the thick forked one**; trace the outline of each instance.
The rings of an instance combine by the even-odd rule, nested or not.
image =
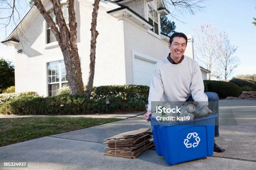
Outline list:
[[[92,10],[92,23],[91,23],[91,49],[90,49],[90,71],[89,77],[87,80],[85,95],[90,98],[92,93],[92,85],[94,79],[94,71],[95,71],[95,53],[96,53],[96,39],[99,35],[98,31],[96,30],[97,26],[97,15],[99,10],[99,3],[100,0],[95,0],[93,4]]]

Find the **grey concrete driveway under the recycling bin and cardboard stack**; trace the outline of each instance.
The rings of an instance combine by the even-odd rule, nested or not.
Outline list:
[[[103,155],[106,152],[103,139],[139,128],[150,128],[150,123],[143,120],[142,115],[16,143],[0,147],[0,161],[28,162],[28,168],[14,170],[253,170],[256,167],[256,100],[220,101],[220,137],[216,142],[226,151],[214,153],[204,160],[169,166],[153,149],[136,159]]]

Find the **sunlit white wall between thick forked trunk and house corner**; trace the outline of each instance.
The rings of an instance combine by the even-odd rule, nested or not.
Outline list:
[[[78,49],[82,61],[84,84],[87,83],[89,75],[90,27],[93,3],[94,1],[91,1],[89,4],[87,1],[80,0],[80,9],[82,9],[80,10],[80,20],[82,23],[80,37],[82,38],[82,42],[78,44]],[[96,46],[94,86],[125,84],[123,21],[109,15],[107,13],[109,10],[112,9],[100,6],[98,11],[97,31],[99,32],[99,35],[97,37]]]

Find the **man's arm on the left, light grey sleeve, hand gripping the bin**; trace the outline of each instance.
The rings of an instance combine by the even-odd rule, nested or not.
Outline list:
[[[144,119],[148,121],[148,116],[151,115],[151,102],[160,101],[162,95],[164,94],[164,87],[161,80],[161,74],[157,66],[154,68],[153,77],[151,80],[151,85],[149,87],[148,94],[148,112],[144,115]]]

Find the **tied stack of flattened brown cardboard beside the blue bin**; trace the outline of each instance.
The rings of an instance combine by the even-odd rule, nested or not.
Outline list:
[[[103,144],[108,144],[105,149],[109,151],[104,155],[135,159],[154,146],[152,133],[148,132],[149,130],[149,128],[141,128],[105,139]]]

